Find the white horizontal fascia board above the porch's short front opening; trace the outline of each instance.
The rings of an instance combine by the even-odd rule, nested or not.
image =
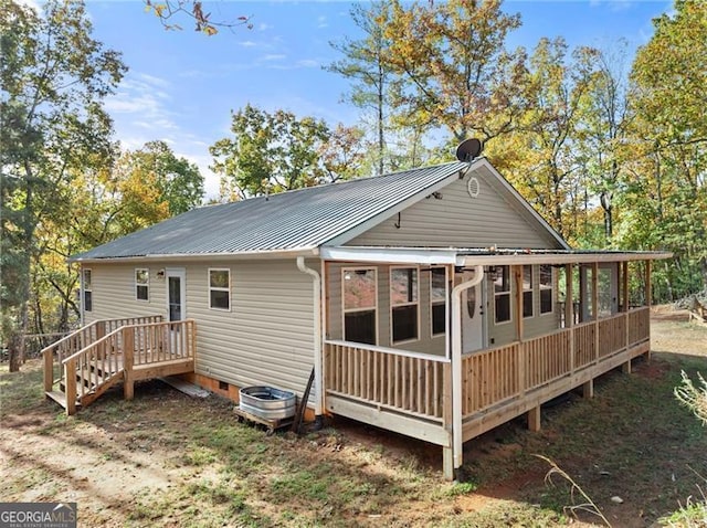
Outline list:
[[[340,262],[378,262],[387,264],[456,264],[454,250],[415,247],[321,247],[321,258]]]

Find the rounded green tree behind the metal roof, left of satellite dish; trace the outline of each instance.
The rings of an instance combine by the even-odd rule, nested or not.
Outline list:
[[[226,199],[336,181],[357,172],[361,162],[352,155],[360,134],[339,127],[333,135],[324,120],[282,109],[271,114],[246,105],[232,115],[231,131],[233,137],[210,147]]]

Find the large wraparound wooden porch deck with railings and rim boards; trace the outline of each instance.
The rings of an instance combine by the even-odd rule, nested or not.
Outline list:
[[[326,408],[444,447],[452,444],[452,405],[468,441],[650,351],[650,309],[615,314],[556,332],[462,356],[462,393],[452,394],[451,360],[381,347],[326,341]]]

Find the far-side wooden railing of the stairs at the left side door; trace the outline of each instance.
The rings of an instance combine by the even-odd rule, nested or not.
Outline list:
[[[67,357],[125,325],[145,325],[159,323],[161,320],[161,315],[95,320],[59,341],[53,342],[49,347],[43,348],[41,353],[44,360],[44,391],[52,391],[55,384],[64,380],[63,362]]]

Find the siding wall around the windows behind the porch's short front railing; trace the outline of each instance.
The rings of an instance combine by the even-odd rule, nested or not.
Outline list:
[[[404,267],[404,265],[401,265]],[[429,266],[418,268],[419,282],[419,339],[393,345],[391,341],[390,267],[361,263],[329,263],[327,283],[327,338],[344,339],[344,308],[341,300],[341,271],[344,268],[376,268],[378,272],[378,346],[423,353],[445,353],[445,337],[432,336]],[[398,267],[398,266],[394,266]]]

